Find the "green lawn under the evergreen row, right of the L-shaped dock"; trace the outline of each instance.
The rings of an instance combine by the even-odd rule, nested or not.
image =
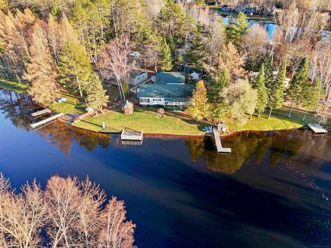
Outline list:
[[[267,130],[286,130],[292,128],[303,127],[308,123],[317,123],[318,120],[312,116],[312,114],[307,114],[305,121],[302,121],[303,112],[293,110],[291,118],[288,118],[288,107],[283,107],[281,110],[273,110],[272,115],[268,118],[267,112],[261,114],[259,118],[256,115],[252,117],[243,127],[237,125],[237,123],[228,123],[229,129],[233,131],[245,131],[245,130],[255,130],[255,131],[267,131]]]

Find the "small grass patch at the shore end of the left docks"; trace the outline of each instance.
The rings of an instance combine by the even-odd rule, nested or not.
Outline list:
[[[81,103],[77,96],[73,96],[68,93],[61,93],[57,97],[66,97],[65,103],[53,103],[50,109],[56,113],[74,113],[83,114],[85,113],[85,105]]]

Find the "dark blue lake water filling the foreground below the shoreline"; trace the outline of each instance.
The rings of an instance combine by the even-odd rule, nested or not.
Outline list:
[[[137,247],[330,247],[331,138],[309,131],[222,138],[118,135],[59,122],[30,130],[31,102],[0,92],[0,171],[13,187],[87,175],[123,199]]]

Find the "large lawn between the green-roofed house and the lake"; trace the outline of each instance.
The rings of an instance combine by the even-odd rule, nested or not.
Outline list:
[[[190,118],[169,114],[165,114],[163,118],[157,118],[156,108],[134,107],[134,113],[130,115],[108,112],[97,117],[87,118],[74,126],[101,131],[103,121],[106,124],[106,132],[121,132],[126,128],[157,134],[203,134],[202,128],[208,125],[208,123],[196,123]]]

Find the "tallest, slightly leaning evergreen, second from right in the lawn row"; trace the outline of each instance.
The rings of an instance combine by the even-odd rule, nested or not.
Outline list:
[[[301,91],[305,83],[307,83],[309,78],[309,64],[308,57],[305,56],[297,68],[297,72],[294,74],[293,79],[290,83],[290,88],[288,89],[288,96],[292,98],[292,104],[290,108],[290,113],[288,118],[291,118],[293,104],[295,101],[300,102],[301,100]]]

